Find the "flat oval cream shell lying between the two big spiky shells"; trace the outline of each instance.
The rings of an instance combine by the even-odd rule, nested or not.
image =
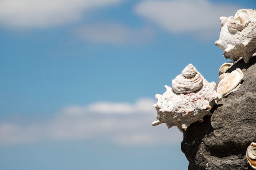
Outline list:
[[[238,84],[242,81],[244,75],[240,68],[231,73],[224,73],[220,75],[220,82],[218,82],[218,87],[216,91],[221,93],[223,96],[229,95],[230,92],[237,90]]]

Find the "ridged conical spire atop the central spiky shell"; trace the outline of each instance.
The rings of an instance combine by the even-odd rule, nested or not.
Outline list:
[[[192,64],[189,64],[184,68],[182,74],[172,80],[172,83],[175,93],[191,93],[203,86],[203,79],[196,68]]]

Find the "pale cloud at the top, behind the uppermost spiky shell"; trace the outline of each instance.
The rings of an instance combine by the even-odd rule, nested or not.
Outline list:
[[[232,4],[217,4],[208,0],[145,0],[137,4],[135,13],[171,33],[209,29],[219,32],[220,16],[234,15],[238,9]]]

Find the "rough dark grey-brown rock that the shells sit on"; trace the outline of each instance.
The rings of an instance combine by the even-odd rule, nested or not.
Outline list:
[[[246,149],[256,142],[256,57],[239,60],[227,72],[240,68],[244,80],[237,91],[212,108],[212,116],[184,132],[182,152],[189,170],[253,170]]]

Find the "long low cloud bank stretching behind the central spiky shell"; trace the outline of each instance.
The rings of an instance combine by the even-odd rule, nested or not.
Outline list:
[[[139,99],[134,104],[99,102],[63,108],[54,118],[40,123],[2,122],[0,144],[77,139],[111,141],[119,145],[181,142],[182,133],[176,127],[151,126],[156,115],[154,103],[152,99]]]

